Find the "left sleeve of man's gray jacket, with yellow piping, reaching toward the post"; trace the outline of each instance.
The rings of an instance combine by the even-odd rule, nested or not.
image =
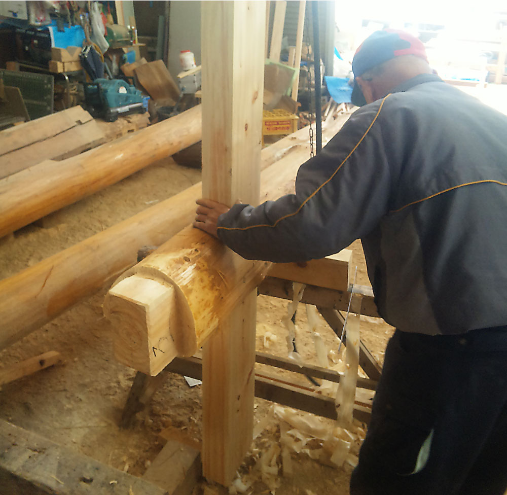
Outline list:
[[[244,258],[289,262],[337,253],[368,234],[387,213],[391,190],[384,101],[356,111],[301,165],[295,194],[257,207],[236,204],[221,215],[219,238]]]

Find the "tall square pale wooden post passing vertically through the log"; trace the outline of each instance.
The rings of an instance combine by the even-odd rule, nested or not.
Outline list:
[[[203,197],[257,204],[265,2],[201,5]],[[203,474],[224,485],[252,440],[256,294],[203,347]]]

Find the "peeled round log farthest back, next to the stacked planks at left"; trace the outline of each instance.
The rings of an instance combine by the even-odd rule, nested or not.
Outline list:
[[[0,180],[0,237],[115,184],[200,137],[199,106],[81,155],[43,162]]]

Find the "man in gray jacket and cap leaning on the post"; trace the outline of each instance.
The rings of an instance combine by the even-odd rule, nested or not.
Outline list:
[[[194,225],[248,259],[306,261],[361,238],[389,341],[352,495],[507,488],[507,117],[444,83],[403,31],[357,50],[361,108],[253,207]]]

